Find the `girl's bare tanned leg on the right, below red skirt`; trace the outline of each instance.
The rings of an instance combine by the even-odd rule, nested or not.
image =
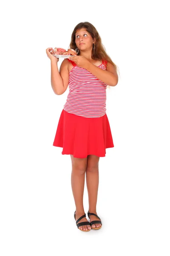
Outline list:
[[[99,157],[95,155],[88,155],[86,168],[86,183],[88,189],[89,212],[97,215],[97,193],[99,187]],[[96,216],[90,215],[90,222],[99,220]],[[100,227],[101,224],[94,224],[92,227]]]

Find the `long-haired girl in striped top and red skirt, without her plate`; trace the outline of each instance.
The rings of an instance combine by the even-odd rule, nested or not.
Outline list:
[[[51,60],[51,86],[61,95],[69,86],[67,101],[59,118],[53,145],[70,154],[71,187],[76,211],[74,218],[82,231],[98,230],[102,221],[96,212],[99,186],[99,157],[113,148],[113,139],[106,115],[106,87],[118,83],[117,67],[107,55],[96,28],[81,22],[71,35],[71,49],[77,55],[65,58],[58,70],[59,58],[47,48]],[[88,218],[83,207],[83,192],[88,189]]]

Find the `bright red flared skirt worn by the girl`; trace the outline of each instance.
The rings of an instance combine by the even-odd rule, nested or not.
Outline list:
[[[53,146],[63,148],[62,154],[74,157],[84,158],[90,154],[105,157],[105,149],[114,147],[108,116],[88,118],[63,109]]]

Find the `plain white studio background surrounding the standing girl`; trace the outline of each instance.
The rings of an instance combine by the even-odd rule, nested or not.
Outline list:
[[[168,1],[1,4],[1,256],[170,255]],[[119,67],[107,89],[114,148],[99,160],[101,230],[77,229],[71,157],[53,141],[68,90],[51,88],[45,49],[88,21]],[[58,67],[63,59],[59,60]],[[88,195],[85,185],[84,208]]]

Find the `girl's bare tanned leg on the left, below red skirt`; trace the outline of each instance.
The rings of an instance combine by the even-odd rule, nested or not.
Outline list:
[[[76,221],[85,214],[83,207],[83,193],[85,186],[85,171],[87,167],[87,157],[77,158],[71,155],[72,172],[71,172],[71,187],[73,191],[74,201],[76,205]],[[88,221],[87,218],[82,218],[79,222]],[[78,222],[78,223],[79,223]],[[80,226],[79,229],[91,229],[90,225]]]

